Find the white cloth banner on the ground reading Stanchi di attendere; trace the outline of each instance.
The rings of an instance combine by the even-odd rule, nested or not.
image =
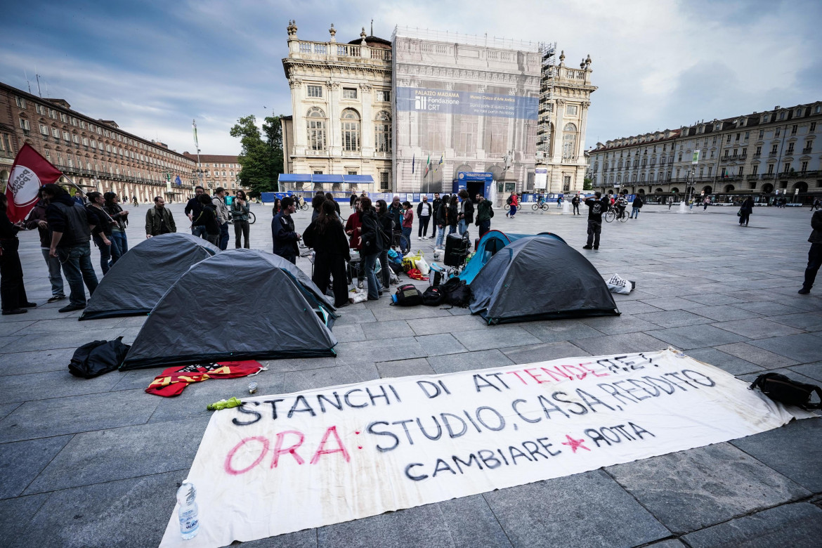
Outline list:
[[[369,380],[215,412],[160,546],[226,546],[769,431],[813,413],[667,349]],[[174,493],[165,496],[173,497]]]

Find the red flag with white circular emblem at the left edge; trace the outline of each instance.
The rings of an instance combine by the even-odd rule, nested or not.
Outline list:
[[[57,181],[62,172],[47,159],[25,143],[12,165],[12,174],[8,177],[6,198],[8,219],[12,223],[22,221],[37,204],[37,191],[43,185]]]

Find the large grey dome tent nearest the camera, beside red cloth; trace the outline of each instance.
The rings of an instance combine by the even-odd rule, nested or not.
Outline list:
[[[169,288],[120,369],[335,356],[333,310],[288,260],[251,249],[223,251]]]

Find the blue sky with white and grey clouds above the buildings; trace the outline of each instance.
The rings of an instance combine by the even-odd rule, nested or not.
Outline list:
[[[504,6],[504,7],[503,7]],[[281,59],[301,39],[395,25],[556,41],[593,58],[587,145],[822,99],[819,0],[72,0],[3,7],[0,79],[174,150],[237,154],[238,117],[291,114]]]

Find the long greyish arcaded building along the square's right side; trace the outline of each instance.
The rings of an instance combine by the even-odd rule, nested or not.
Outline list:
[[[597,143],[594,190],[705,195],[822,193],[822,102]],[[696,154],[698,151],[698,155]]]

